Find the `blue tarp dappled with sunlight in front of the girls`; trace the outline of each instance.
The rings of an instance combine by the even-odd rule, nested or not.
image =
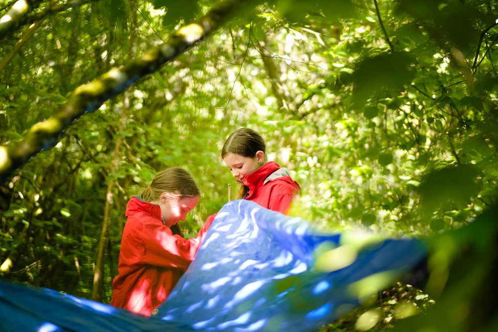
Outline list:
[[[196,259],[149,319],[48,289],[0,282],[7,331],[313,331],[411,270],[418,239],[323,234],[239,200],[216,216]]]

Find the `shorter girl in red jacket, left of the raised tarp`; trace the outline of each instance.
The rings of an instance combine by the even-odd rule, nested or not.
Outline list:
[[[208,218],[195,238],[173,234],[171,228],[185,220],[199,196],[192,176],[172,167],[157,173],[142,197],[131,198],[111,305],[150,316],[166,300],[213,221]]]

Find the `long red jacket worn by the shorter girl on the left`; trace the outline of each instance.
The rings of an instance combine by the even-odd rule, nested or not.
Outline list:
[[[173,235],[161,222],[159,205],[140,197],[128,202],[126,216],[110,304],[150,316],[189,267],[214,216],[190,239]]]

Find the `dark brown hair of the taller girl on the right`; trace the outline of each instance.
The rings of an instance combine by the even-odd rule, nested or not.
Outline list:
[[[223,144],[223,147],[221,148],[221,159],[225,158],[229,153],[254,158],[258,151],[264,152],[264,161],[266,162],[266,145],[261,135],[253,129],[239,128],[232,132]],[[236,199],[243,198],[248,192],[249,187],[239,185]]]

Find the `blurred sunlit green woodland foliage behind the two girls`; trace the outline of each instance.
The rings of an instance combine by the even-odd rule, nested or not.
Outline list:
[[[0,16],[11,4],[0,0]],[[216,5],[93,1],[43,19],[53,2],[41,2],[28,14],[39,15],[37,25],[20,24],[0,39],[0,144],[20,140],[75,87],[126,64],[130,52],[140,56]],[[497,16],[496,4],[483,0],[260,5],[257,16],[234,19],[129,88],[129,105],[113,98],[78,120],[54,148],[0,184],[0,277],[90,297],[107,184],[114,182],[108,302],[129,197],[155,171],[185,167],[202,192],[181,225],[187,236],[195,234],[227,201],[227,185],[235,185],[219,150],[240,126],[261,132],[269,160],[300,182],[292,214],[316,228],[457,236],[498,196]],[[115,156],[119,138],[124,143]],[[115,160],[119,167],[111,172]],[[484,255],[494,248],[486,239],[495,232],[479,234],[467,236],[465,247]],[[441,240],[436,251],[449,255],[447,269],[460,257],[450,255],[455,243]],[[470,260],[454,277],[471,271],[473,280],[489,281],[492,262]],[[461,294],[489,286],[458,285]],[[372,319],[373,329],[391,327],[396,303],[425,311],[425,297],[406,299],[404,292],[421,294],[398,287],[389,300],[358,309],[330,330]],[[435,306],[441,317],[479,306],[444,294],[445,306]]]

